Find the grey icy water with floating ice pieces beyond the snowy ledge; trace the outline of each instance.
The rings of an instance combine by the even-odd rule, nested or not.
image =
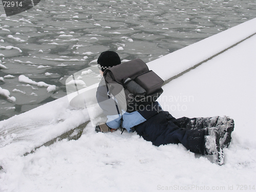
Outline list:
[[[0,15],[3,120],[65,96],[68,76],[102,51],[148,62],[256,17],[256,3],[45,0],[11,17],[1,6]]]

